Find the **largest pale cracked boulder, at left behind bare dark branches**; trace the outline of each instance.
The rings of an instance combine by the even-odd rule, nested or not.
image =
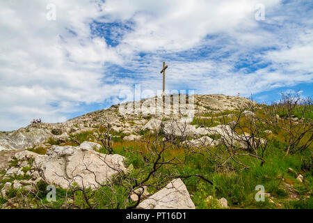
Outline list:
[[[79,187],[95,189],[113,175],[127,171],[125,157],[106,155],[73,146],[52,146],[44,157],[37,157],[35,164],[47,183],[67,188],[73,183]]]

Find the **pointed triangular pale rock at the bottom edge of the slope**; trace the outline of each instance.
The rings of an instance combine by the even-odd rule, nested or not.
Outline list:
[[[139,203],[143,209],[195,209],[186,185],[180,178],[172,180],[162,190]]]

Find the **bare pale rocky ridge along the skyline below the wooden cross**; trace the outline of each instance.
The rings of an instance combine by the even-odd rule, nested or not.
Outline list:
[[[136,138],[150,118],[166,120],[179,119],[188,116],[188,114],[173,114],[175,105],[182,107],[184,102],[175,102],[175,100],[173,100],[175,95],[170,95],[168,97],[171,100],[171,107],[168,109],[167,113],[161,112],[160,114],[155,114],[156,112],[151,112],[149,109],[141,109],[140,112],[123,114],[120,112],[120,105],[113,105],[109,109],[90,112],[83,116],[72,118],[64,123],[35,123],[28,125],[26,128],[19,128],[19,130],[12,132],[0,132],[0,151],[32,148],[35,145],[44,143],[49,138],[63,140],[66,139],[69,134],[92,131],[97,129],[100,124],[105,123],[111,123],[112,130],[115,130],[116,132],[124,132],[125,134],[131,135],[131,137],[128,137],[129,139],[133,139],[134,137]],[[187,95],[187,107],[188,99],[189,97]],[[141,105],[155,104],[157,103],[157,97],[147,98],[139,101],[139,103],[141,103]],[[227,95],[194,95],[194,109],[189,109],[188,111],[192,111],[196,116],[201,116],[201,114],[206,112],[214,113],[240,109],[242,107],[248,107],[250,104],[255,104],[255,102],[246,98]],[[190,123],[192,119],[186,119],[186,121]]]

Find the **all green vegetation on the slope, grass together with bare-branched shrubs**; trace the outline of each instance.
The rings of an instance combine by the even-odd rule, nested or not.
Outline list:
[[[65,205],[63,197],[67,196],[70,198],[66,200],[67,208],[126,208],[136,203],[128,197],[129,188],[138,188],[138,182],[144,181],[147,190],[153,194],[172,178],[180,177],[196,208],[219,208],[218,199],[224,197],[230,208],[312,209],[312,105],[292,107],[282,103],[255,108],[252,111],[255,118],[248,116],[239,118],[242,111],[226,111],[202,114],[202,118],[195,117],[192,122],[198,127],[214,127],[239,119],[237,125],[233,127],[234,131],[241,135],[250,134],[255,137],[254,139],[266,140],[266,143],[250,148],[241,148],[233,144],[220,144],[213,148],[211,146],[188,148],[179,141],[181,139],[168,137],[161,130],[155,134],[141,130],[139,134],[143,136],[145,142],[124,141],[122,137],[127,134],[110,130],[111,139],[114,141],[113,153],[125,156],[126,167],[131,167],[124,178],[116,176],[112,182],[104,182],[106,185],[94,191],[57,188],[56,202],[47,201],[47,183],[40,181],[37,183],[37,197],[33,194],[27,195],[29,202],[35,205],[39,198],[49,208],[62,208]],[[279,120],[275,119],[275,114],[280,115]],[[303,122],[291,122],[288,119],[291,114],[293,117],[303,119]],[[264,132],[266,130],[273,133],[266,134]],[[76,146],[83,141],[95,141],[95,133],[105,132],[106,128],[99,127],[99,132],[71,135],[70,141],[66,141],[64,145]],[[208,136],[214,140],[223,139],[220,134]],[[59,144],[53,139],[49,139],[49,143]],[[31,151],[43,153],[43,148],[32,148]],[[109,153],[104,147],[99,152]],[[161,161],[156,162],[160,157]],[[17,160],[13,159],[11,167],[15,166]],[[154,166],[157,171],[151,174]],[[290,168],[294,171],[289,171]],[[25,173],[28,170],[29,167],[23,168]],[[296,179],[299,174],[304,178],[302,183]],[[208,179],[212,184],[195,175]],[[0,188],[4,183],[20,178],[28,179],[29,176],[13,176],[0,180]],[[265,192],[270,194],[269,197],[265,197],[265,201],[256,201],[257,185],[263,185]],[[18,197],[18,192],[23,193],[10,189],[7,196]],[[212,199],[208,199],[210,196]],[[6,199],[0,197],[0,204],[4,202]]]

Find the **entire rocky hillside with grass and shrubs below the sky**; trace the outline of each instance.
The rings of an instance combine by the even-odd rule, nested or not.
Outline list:
[[[178,98],[1,132],[2,208],[313,207],[312,101]]]

